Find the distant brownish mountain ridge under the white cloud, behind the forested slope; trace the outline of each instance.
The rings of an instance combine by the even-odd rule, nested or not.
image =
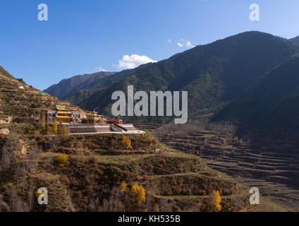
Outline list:
[[[73,76],[71,78],[63,79],[58,84],[51,85],[44,92],[58,97],[60,100],[67,100],[78,90],[88,88],[90,84],[97,83],[97,81],[107,76],[113,75],[114,72],[100,71],[97,73],[84,74],[79,76]]]

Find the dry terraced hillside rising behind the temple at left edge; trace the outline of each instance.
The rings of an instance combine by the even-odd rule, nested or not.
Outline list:
[[[40,94],[41,91],[21,79],[14,78],[1,67],[0,81],[0,124],[39,119],[42,109],[54,109],[55,105],[66,105],[69,109],[80,110],[47,93]],[[20,89],[20,86],[24,89]]]

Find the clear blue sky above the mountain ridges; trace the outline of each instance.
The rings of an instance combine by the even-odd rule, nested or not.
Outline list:
[[[253,3],[260,21],[249,19]],[[48,21],[37,19],[39,4],[47,4]],[[298,9],[298,0],[0,0],[0,65],[43,90],[78,74],[126,69],[124,55],[159,61],[248,30],[295,37]]]

